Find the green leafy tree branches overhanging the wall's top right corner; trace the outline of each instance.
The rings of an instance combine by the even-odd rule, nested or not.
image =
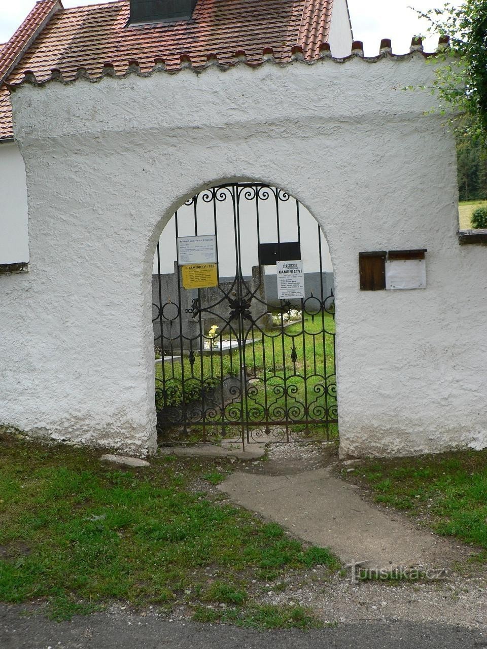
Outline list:
[[[445,65],[438,69],[436,88],[440,98],[469,117],[469,131],[487,143],[487,0],[466,0],[455,6],[445,3],[421,16],[429,19],[429,31],[450,36],[443,52]],[[449,55],[456,55],[452,62]]]

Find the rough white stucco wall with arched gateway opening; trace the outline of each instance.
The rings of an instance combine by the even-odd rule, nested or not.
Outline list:
[[[195,191],[261,180],[329,241],[342,454],[485,445],[487,251],[458,245],[429,90],[401,90],[433,74],[415,53],[21,86],[31,265],[0,276],[0,421],[151,452],[156,241]],[[358,252],[409,248],[427,289],[359,291]]]

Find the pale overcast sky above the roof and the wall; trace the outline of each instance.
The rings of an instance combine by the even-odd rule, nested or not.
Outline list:
[[[95,5],[103,0],[63,0],[63,6]],[[443,6],[444,0],[349,0],[353,32],[364,42],[368,56],[377,54],[381,38],[391,38],[395,54],[409,50],[412,36],[424,34],[425,21],[408,6],[426,10]],[[461,5],[460,0],[453,2]],[[7,41],[29,13],[34,0],[0,0],[0,43]],[[425,42],[427,51],[436,49],[437,38]]]

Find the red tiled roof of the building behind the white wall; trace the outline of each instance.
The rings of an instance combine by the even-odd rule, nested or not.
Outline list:
[[[251,63],[262,61],[262,50],[271,47],[278,61],[291,57],[291,47],[301,45],[308,60],[319,56],[319,45],[329,36],[333,0],[198,0],[191,21],[130,27],[129,0],[61,9],[49,19],[40,35],[3,81],[16,83],[23,71],[32,70],[42,81],[59,69],[64,79],[75,77],[79,67],[101,75],[110,62],[121,73],[136,60],[142,71],[162,58],[168,69],[181,67],[181,55],[194,67],[216,54],[222,64],[235,62],[235,52],[245,51]],[[37,3],[29,18],[0,55],[0,70],[19,51],[26,34],[49,14],[56,0]],[[42,9],[42,11],[41,11]],[[35,15],[34,15],[35,14]],[[44,16],[44,18],[41,18]],[[11,53],[11,54],[10,54]],[[0,74],[0,80],[2,75]],[[12,137],[8,91],[0,88],[0,140]]]

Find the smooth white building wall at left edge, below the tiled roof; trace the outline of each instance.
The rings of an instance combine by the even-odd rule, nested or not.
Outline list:
[[[0,264],[29,261],[25,167],[15,143],[0,145]]]

